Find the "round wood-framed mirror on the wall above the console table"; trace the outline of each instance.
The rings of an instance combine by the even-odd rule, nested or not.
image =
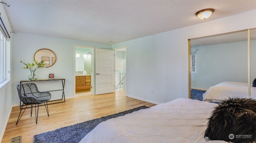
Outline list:
[[[51,67],[56,62],[56,55],[50,49],[40,49],[36,51],[34,55],[34,60],[40,62],[44,61],[45,67]]]

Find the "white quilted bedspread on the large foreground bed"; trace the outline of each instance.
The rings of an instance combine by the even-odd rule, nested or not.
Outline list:
[[[204,139],[216,105],[179,98],[104,121],[80,143],[226,143]]]

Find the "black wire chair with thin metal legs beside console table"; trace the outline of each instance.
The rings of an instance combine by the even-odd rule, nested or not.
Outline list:
[[[31,105],[30,117],[32,117],[33,105],[35,105],[35,110],[36,110],[36,104],[37,104],[37,112],[36,112],[36,124],[37,124],[39,104],[44,103],[44,106],[46,108],[46,112],[49,116],[49,110],[48,110],[47,102],[51,99],[50,92],[40,92],[40,91],[38,91],[37,86],[34,83],[18,84],[16,87],[17,87],[17,90],[18,90],[20,101],[22,101],[22,103],[23,103],[22,107],[20,109],[20,114],[21,114],[21,111],[22,111],[24,105],[26,105],[26,108],[27,108],[28,105]],[[19,115],[16,125],[20,121],[20,118],[22,117],[26,108],[24,108],[24,111],[22,112],[22,114]]]

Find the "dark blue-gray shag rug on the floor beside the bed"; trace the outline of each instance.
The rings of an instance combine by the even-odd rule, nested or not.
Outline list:
[[[34,135],[34,143],[78,143],[87,133],[89,133],[94,127],[96,127],[102,121],[106,121],[111,118],[124,116],[125,114],[138,111],[140,109],[146,109],[147,106],[141,106],[124,112],[112,114],[109,116],[101,117],[98,119],[92,119],[68,127],[62,127],[54,131],[48,131],[39,135]]]

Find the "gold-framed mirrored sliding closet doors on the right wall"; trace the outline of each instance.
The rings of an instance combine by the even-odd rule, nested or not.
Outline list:
[[[255,37],[256,29],[246,29],[189,39],[189,97],[193,89],[206,91],[222,82],[245,84],[249,97],[256,78]]]

